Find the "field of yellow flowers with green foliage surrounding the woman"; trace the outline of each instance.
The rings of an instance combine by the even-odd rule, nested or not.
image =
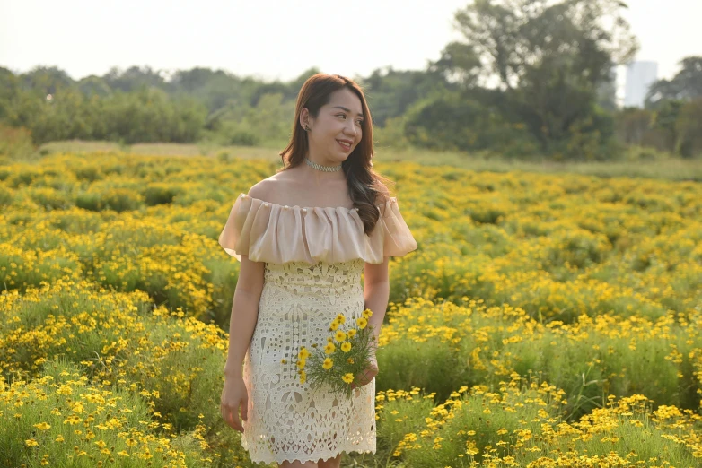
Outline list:
[[[266,160],[0,166],[0,467],[255,466],[222,420]],[[702,184],[378,162],[390,261],[376,454],[348,466],[702,466]]]

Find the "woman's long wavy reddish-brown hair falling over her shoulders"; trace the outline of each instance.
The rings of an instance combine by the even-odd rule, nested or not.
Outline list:
[[[313,74],[304,82],[300,93],[297,95],[295,105],[295,119],[293,125],[293,136],[285,150],[280,152],[283,159],[283,171],[293,169],[303,164],[304,157],[309,151],[310,144],[307,140],[307,132],[300,124],[300,116],[303,108],[307,108],[314,118],[320,113],[320,108],[329,103],[331,93],[348,88],[355,92],[361,100],[362,112],[364,114],[361,142],[358,143],[347,160],[341,164],[341,169],[347,178],[348,195],[354,202],[354,207],[358,208],[358,216],[364,221],[364,232],[369,235],[375,223],[378,222],[380,213],[375,208],[378,204],[385,204],[387,197],[382,193],[381,187],[392,184],[388,178],[382,177],[373,170],[373,125],[371,122],[371,111],[365,102],[364,91],[361,86],[353,80],[341,76],[340,74]]]

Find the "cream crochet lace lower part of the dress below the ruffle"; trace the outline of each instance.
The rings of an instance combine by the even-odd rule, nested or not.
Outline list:
[[[364,260],[266,264],[259,318],[244,358],[249,391],[241,446],[251,461],[317,462],[341,452],[375,453],[375,379],[344,395],[300,384],[297,353],[327,343],[331,321],[364,310]],[[283,364],[281,360],[286,360]]]

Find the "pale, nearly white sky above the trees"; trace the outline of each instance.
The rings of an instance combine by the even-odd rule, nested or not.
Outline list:
[[[468,0],[0,0],[0,66],[36,65],[74,79],[112,66],[224,69],[287,81],[316,66],[368,75],[391,65],[420,70],[461,35],[453,13]],[[627,0],[636,56],[670,79],[702,56],[701,0]]]

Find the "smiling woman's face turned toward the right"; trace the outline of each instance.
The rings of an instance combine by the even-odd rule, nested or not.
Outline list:
[[[331,93],[330,100],[320,108],[317,118],[309,117],[310,159],[320,164],[338,165],[354,151],[363,136],[363,108],[354,91],[343,88]],[[304,123],[303,123],[304,128]],[[344,144],[348,143],[348,144]]]

